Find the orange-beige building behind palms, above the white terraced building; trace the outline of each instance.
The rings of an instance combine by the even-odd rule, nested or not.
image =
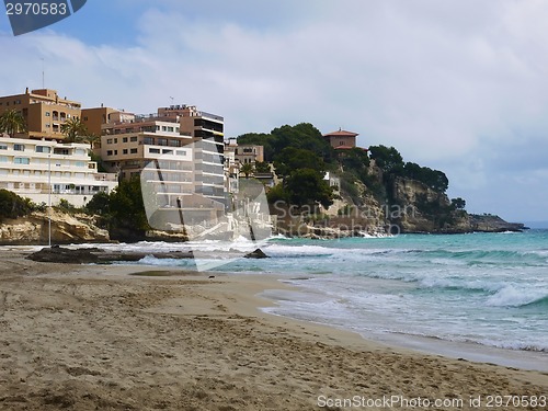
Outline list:
[[[24,94],[0,96],[0,114],[15,109],[25,118],[26,133],[20,133],[15,137],[32,139],[62,140],[62,124],[69,119],[81,116],[81,104],[59,98],[56,90],[28,89]]]

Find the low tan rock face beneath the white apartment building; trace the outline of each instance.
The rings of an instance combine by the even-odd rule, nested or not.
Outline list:
[[[52,242],[68,244],[79,242],[110,242],[109,231],[95,226],[94,218],[87,215],[71,216],[52,212]],[[18,219],[5,219],[0,225],[1,246],[47,244],[49,215],[32,213]]]

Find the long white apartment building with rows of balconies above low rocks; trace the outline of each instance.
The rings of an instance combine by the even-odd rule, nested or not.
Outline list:
[[[98,172],[87,144],[0,137],[0,189],[55,205],[61,198],[81,207],[117,185],[116,174]]]

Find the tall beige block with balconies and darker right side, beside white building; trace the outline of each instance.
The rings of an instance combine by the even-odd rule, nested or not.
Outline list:
[[[121,179],[144,172],[145,181],[162,194],[162,206],[176,207],[184,196],[198,202],[196,195],[225,204],[224,146],[218,144],[222,141],[222,117],[193,106],[172,107],[150,115],[118,112],[96,116],[107,121],[100,148],[105,167]]]

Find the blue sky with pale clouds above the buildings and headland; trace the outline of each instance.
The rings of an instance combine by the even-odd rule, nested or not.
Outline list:
[[[226,137],[311,123],[444,171],[471,213],[548,221],[544,0],[88,0],[13,36],[0,95],[192,104]]]

